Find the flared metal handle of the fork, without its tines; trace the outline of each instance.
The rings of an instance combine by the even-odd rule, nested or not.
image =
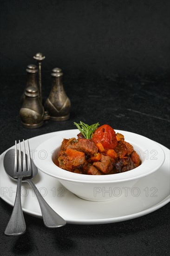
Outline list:
[[[26,222],[21,206],[21,182],[22,177],[19,177],[13,212],[4,232],[7,236],[19,236],[26,232]]]

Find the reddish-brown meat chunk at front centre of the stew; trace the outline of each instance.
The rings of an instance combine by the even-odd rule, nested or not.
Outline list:
[[[98,170],[104,174],[110,173],[113,168],[111,158],[108,155],[102,155],[99,162],[93,162],[93,166],[98,168]]]

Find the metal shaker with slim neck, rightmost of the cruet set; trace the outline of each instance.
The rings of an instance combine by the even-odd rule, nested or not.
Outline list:
[[[65,121],[70,117],[71,102],[67,97],[63,82],[62,70],[59,67],[52,69],[52,89],[46,100],[45,109],[53,121]]]

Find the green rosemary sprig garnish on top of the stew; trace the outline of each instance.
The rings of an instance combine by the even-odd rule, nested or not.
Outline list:
[[[78,130],[84,135],[84,137],[88,140],[91,140],[92,133],[98,128],[99,123],[95,123],[92,125],[85,124],[84,122],[80,121],[80,123],[74,122],[77,126]]]

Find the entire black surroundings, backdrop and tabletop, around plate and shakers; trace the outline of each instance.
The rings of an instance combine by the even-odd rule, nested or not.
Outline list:
[[[170,148],[169,0],[0,1],[0,154],[15,140],[108,123]],[[21,125],[26,66],[42,52],[42,93],[63,70],[68,121]],[[12,207],[0,199],[0,253],[8,255],[170,255],[170,204],[137,219],[46,229],[25,214],[27,231],[6,237]]]

